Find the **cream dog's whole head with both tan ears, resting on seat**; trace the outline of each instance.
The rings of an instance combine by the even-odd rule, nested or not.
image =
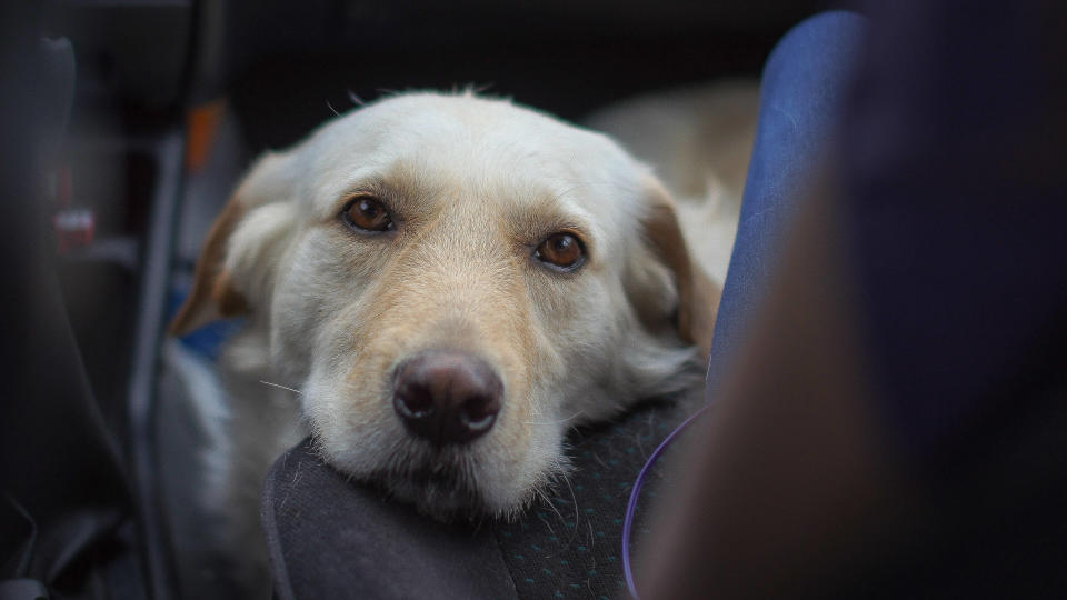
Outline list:
[[[608,138],[420,93],[262,158],[174,330],[250,312],[323,458],[447,518],[522,507],[568,428],[699,380],[716,304]]]

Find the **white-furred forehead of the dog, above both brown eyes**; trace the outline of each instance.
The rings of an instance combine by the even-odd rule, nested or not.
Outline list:
[[[363,181],[403,173],[502,200],[550,196],[602,220],[632,211],[645,172],[606,136],[470,94],[389,98],[328,123],[300,151],[307,196],[323,210]]]

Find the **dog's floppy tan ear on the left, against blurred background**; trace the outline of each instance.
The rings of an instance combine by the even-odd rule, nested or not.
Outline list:
[[[192,291],[171,321],[171,336],[185,336],[212,321],[250,311],[243,293],[227,270],[230,238],[241,220],[253,209],[269,203],[288,188],[287,157],[268,152],[252,167],[208,232],[193,274]]]

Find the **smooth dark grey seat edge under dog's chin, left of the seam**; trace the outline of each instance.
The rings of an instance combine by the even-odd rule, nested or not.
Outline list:
[[[349,484],[306,441],[267,478],[275,596],[515,598],[489,528],[446,526]]]

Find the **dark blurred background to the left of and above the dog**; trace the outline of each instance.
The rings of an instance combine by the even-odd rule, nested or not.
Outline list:
[[[202,432],[163,328],[260,151],[389,91],[472,86],[580,122],[645,92],[755,78],[826,4],[6,3],[2,244],[30,283],[3,311],[4,578],[70,598],[182,596],[174,549],[197,531],[172,492]],[[210,359],[225,333],[182,343]]]

